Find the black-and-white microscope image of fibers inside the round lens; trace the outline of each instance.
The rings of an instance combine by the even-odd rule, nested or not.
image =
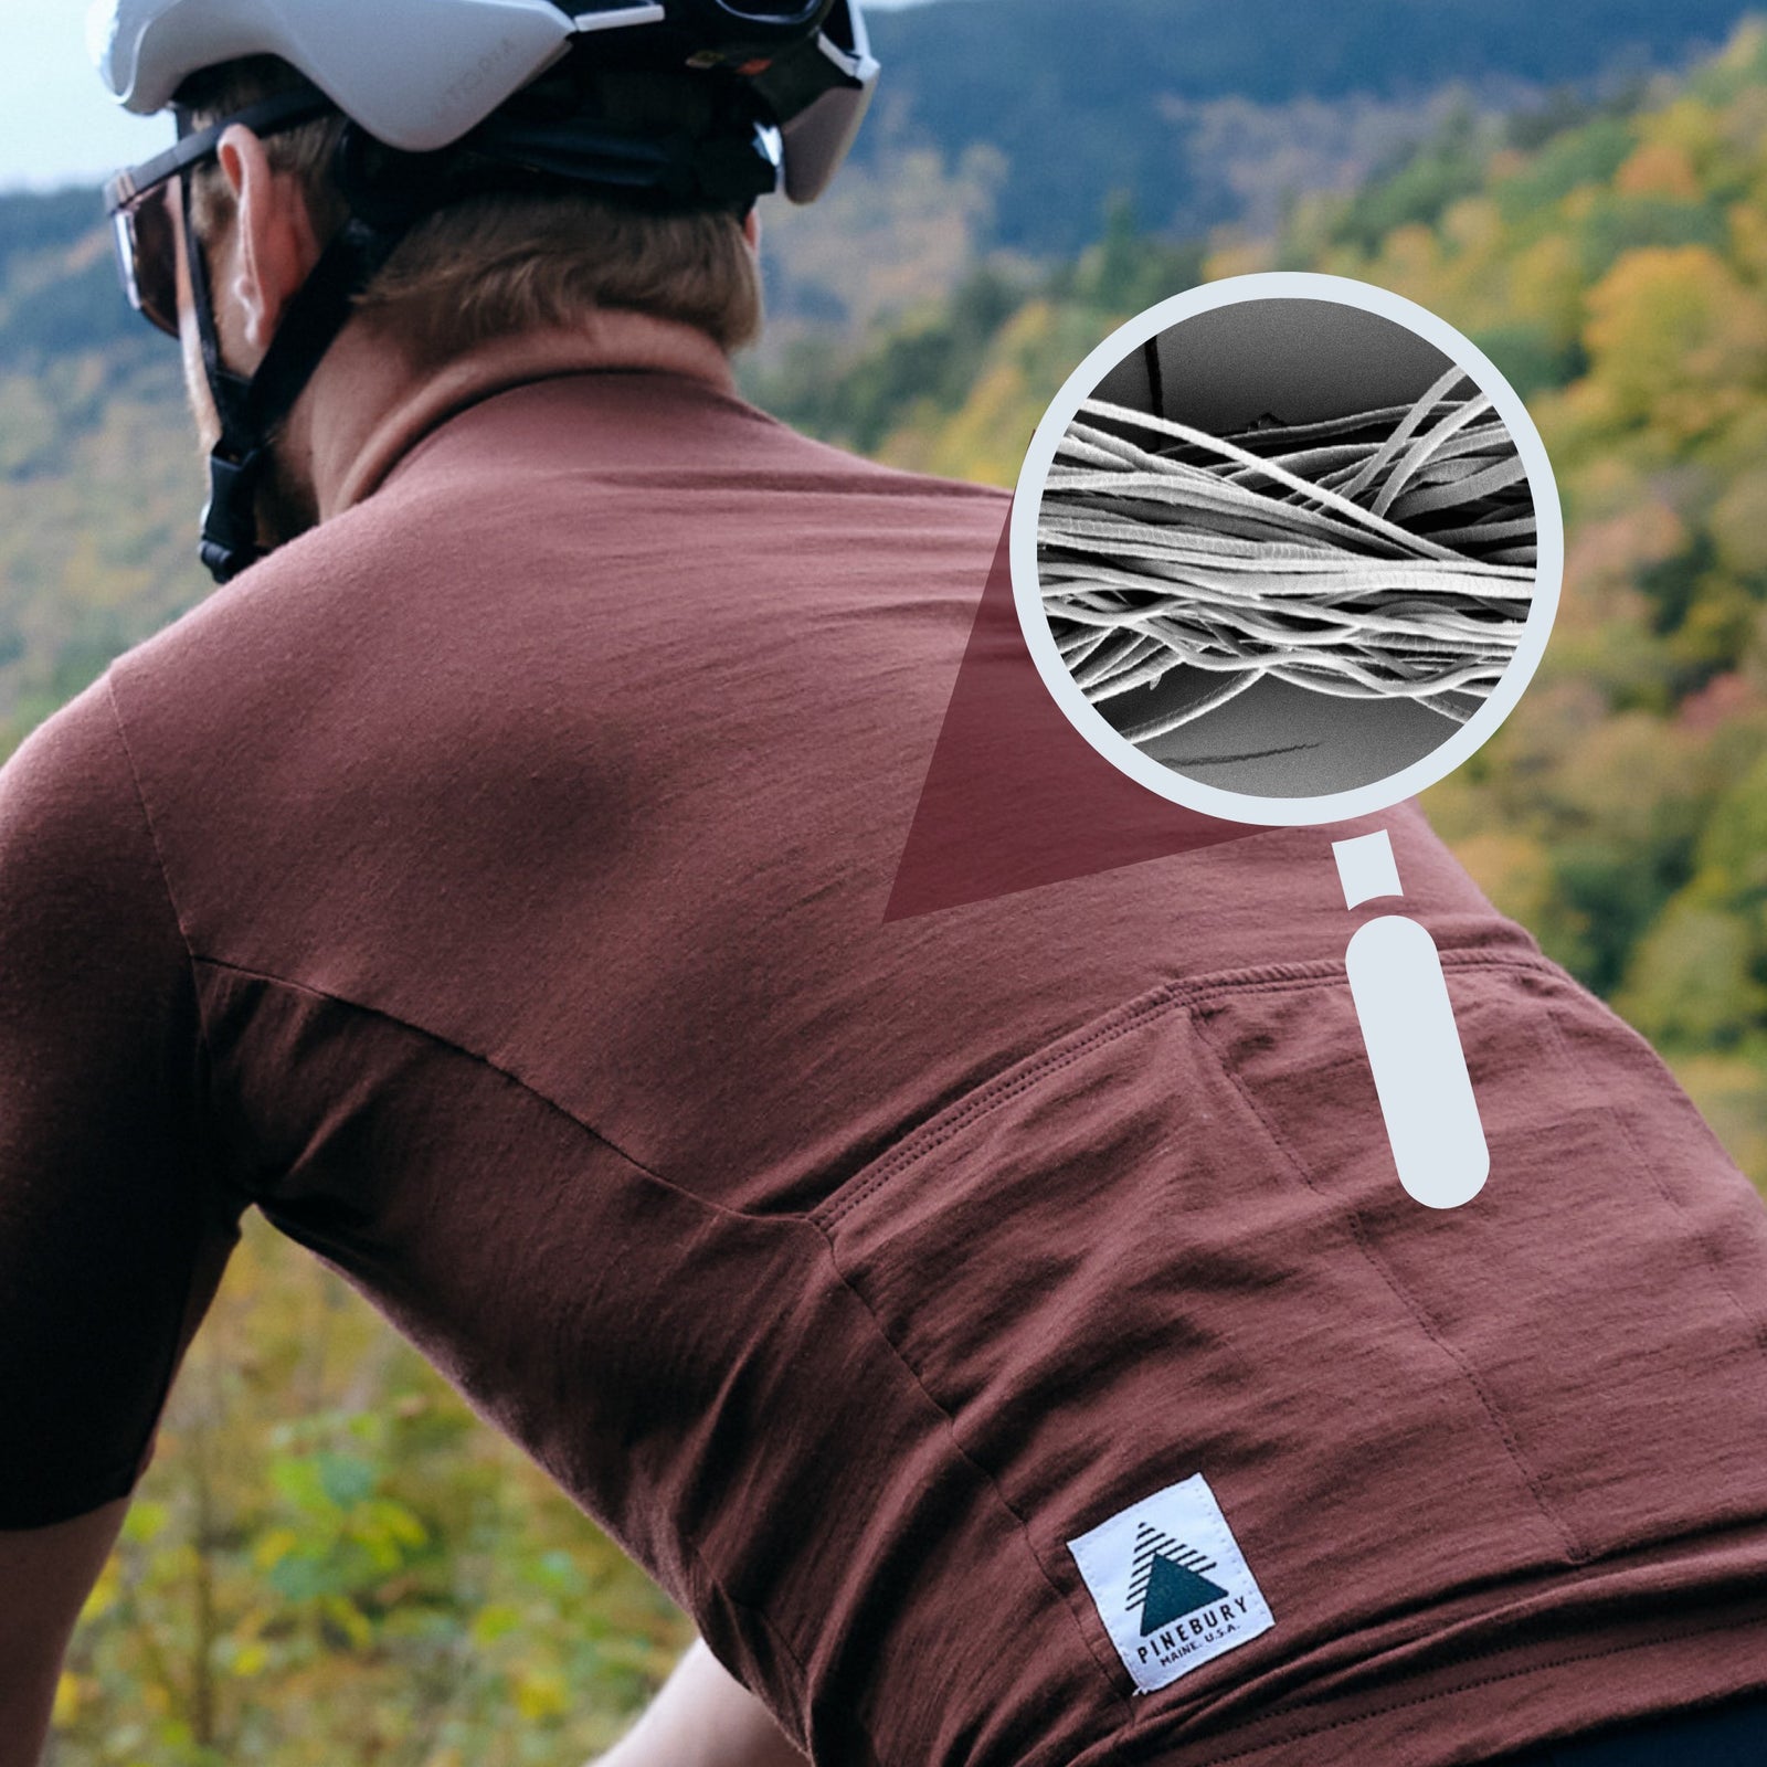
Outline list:
[[[1202,315],[1124,368],[1138,383],[1097,391],[1150,408],[1085,399],[1037,521],[1050,629],[1099,714],[1274,797],[1380,779],[1463,724],[1536,576],[1525,465],[1479,383],[1311,300]]]

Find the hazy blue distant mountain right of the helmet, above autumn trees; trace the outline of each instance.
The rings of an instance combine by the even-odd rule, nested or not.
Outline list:
[[[1157,233],[1237,219],[1265,196],[1348,184],[1444,94],[1525,94],[1642,72],[1716,48],[1735,0],[1355,0],[1331,28],[1285,0],[942,0],[871,16],[885,67],[873,164],[905,143],[956,168],[998,154],[982,244],[1073,254],[1103,198],[1127,193]]]

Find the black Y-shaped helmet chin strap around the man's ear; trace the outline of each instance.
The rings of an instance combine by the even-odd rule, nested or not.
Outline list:
[[[355,297],[387,262],[408,223],[375,228],[357,217],[348,219],[284,307],[256,373],[246,376],[221,359],[209,267],[193,224],[189,171],[178,184],[203,378],[221,422],[221,438],[209,451],[209,502],[203,505],[200,553],[209,574],[226,583],[263,557],[258,491],[277,431],[348,322]]]

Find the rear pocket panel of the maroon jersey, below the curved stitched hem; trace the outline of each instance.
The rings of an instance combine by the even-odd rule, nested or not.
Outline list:
[[[1555,1023],[1604,1009],[1536,959],[1447,974],[1491,1143],[1463,1209],[1399,1189],[1343,970],[1316,965],[1106,1014],[815,1217],[1101,1657],[1067,1543],[1207,1481],[1274,1626],[1170,1696],[1422,1631],[1468,1587],[1696,1525],[1714,1490],[1756,1504],[1735,1451],[1661,1475],[1767,1412],[1746,1309]],[[1733,1202],[1710,1168],[1682,1182]]]

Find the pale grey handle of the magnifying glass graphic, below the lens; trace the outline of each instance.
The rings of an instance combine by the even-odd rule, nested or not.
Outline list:
[[[1399,894],[1384,829],[1334,852],[1352,908]],[[1479,1194],[1491,1154],[1435,940],[1417,921],[1384,914],[1355,929],[1345,967],[1399,1184],[1430,1209],[1458,1209]]]

